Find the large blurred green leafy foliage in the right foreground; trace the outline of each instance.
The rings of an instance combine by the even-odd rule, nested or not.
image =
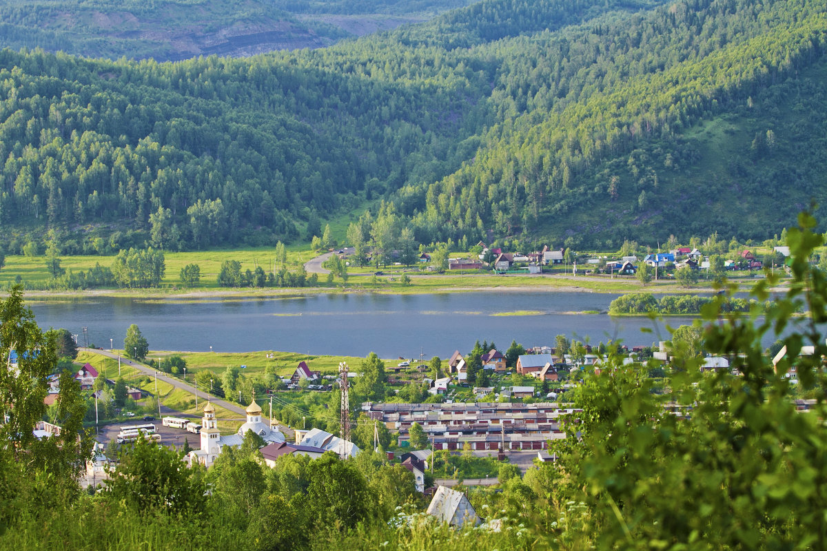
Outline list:
[[[671,549],[808,549],[827,537],[823,515],[815,513],[825,498],[814,483],[827,473],[820,428],[827,347],[817,329],[827,320],[827,279],[808,261],[824,235],[812,232],[810,215],[800,222],[788,236],[793,283],[776,307],[762,318],[755,310],[724,313],[726,297],[719,296],[704,308],[703,347],[733,359],[740,376],[705,375],[700,359],[687,356],[672,375],[672,392],[661,396],[651,392],[645,368],[614,357],[611,369],[578,390],[583,413],[567,430],[581,440],[566,439],[557,449],[570,477],[561,499],[586,505],[591,524],[600,526],[591,532],[597,549],[619,541],[628,549],[650,549],[652,542]],[[766,299],[773,283],[758,283],[753,295]],[[802,303],[806,316],[791,318]],[[795,330],[782,340],[790,354],[772,366],[762,336],[788,325]],[[805,343],[814,355],[798,354]],[[819,397],[815,411],[796,411],[786,378],[793,366],[800,385]]]

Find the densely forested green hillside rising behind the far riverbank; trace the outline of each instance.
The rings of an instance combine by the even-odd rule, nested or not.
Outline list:
[[[825,28],[824,0],[486,0],[250,59],[6,50],[0,223],[255,245],[383,197],[425,243],[764,238],[827,194]]]

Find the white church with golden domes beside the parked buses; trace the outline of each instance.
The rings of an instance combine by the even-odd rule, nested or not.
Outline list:
[[[201,463],[204,467],[209,468],[215,458],[221,454],[224,446],[232,448],[241,448],[241,443],[244,441],[244,435],[247,430],[252,430],[256,435],[261,436],[267,444],[273,442],[284,442],[284,435],[280,430],[270,428],[261,421],[261,406],[252,401],[247,406],[246,414],[247,420],[244,425],[238,428],[235,435],[222,436],[218,430],[218,420],[215,418],[215,406],[211,402],[207,402],[204,406],[204,416],[201,420],[201,449],[195,449],[187,455],[187,461],[190,466],[195,463]]]

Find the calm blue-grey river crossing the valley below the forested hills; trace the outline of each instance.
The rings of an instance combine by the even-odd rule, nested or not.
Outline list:
[[[311,294],[296,297],[150,300],[95,297],[30,302],[43,328],[65,328],[84,342],[123,346],[136,324],[153,350],[246,352],[281,350],[307,354],[382,358],[449,357],[476,340],[507,349],[553,346],[555,335],[592,344],[622,340],[629,346],[667,340],[669,324],[691,323],[670,316],[611,317],[576,313],[607,311],[618,295],[590,292],[460,292],[425,295]],[[506,315],[519,311],[533,315]],[[500,314],[500,316],[498,316]],[[642,329],[652,332],[643,333]]]

